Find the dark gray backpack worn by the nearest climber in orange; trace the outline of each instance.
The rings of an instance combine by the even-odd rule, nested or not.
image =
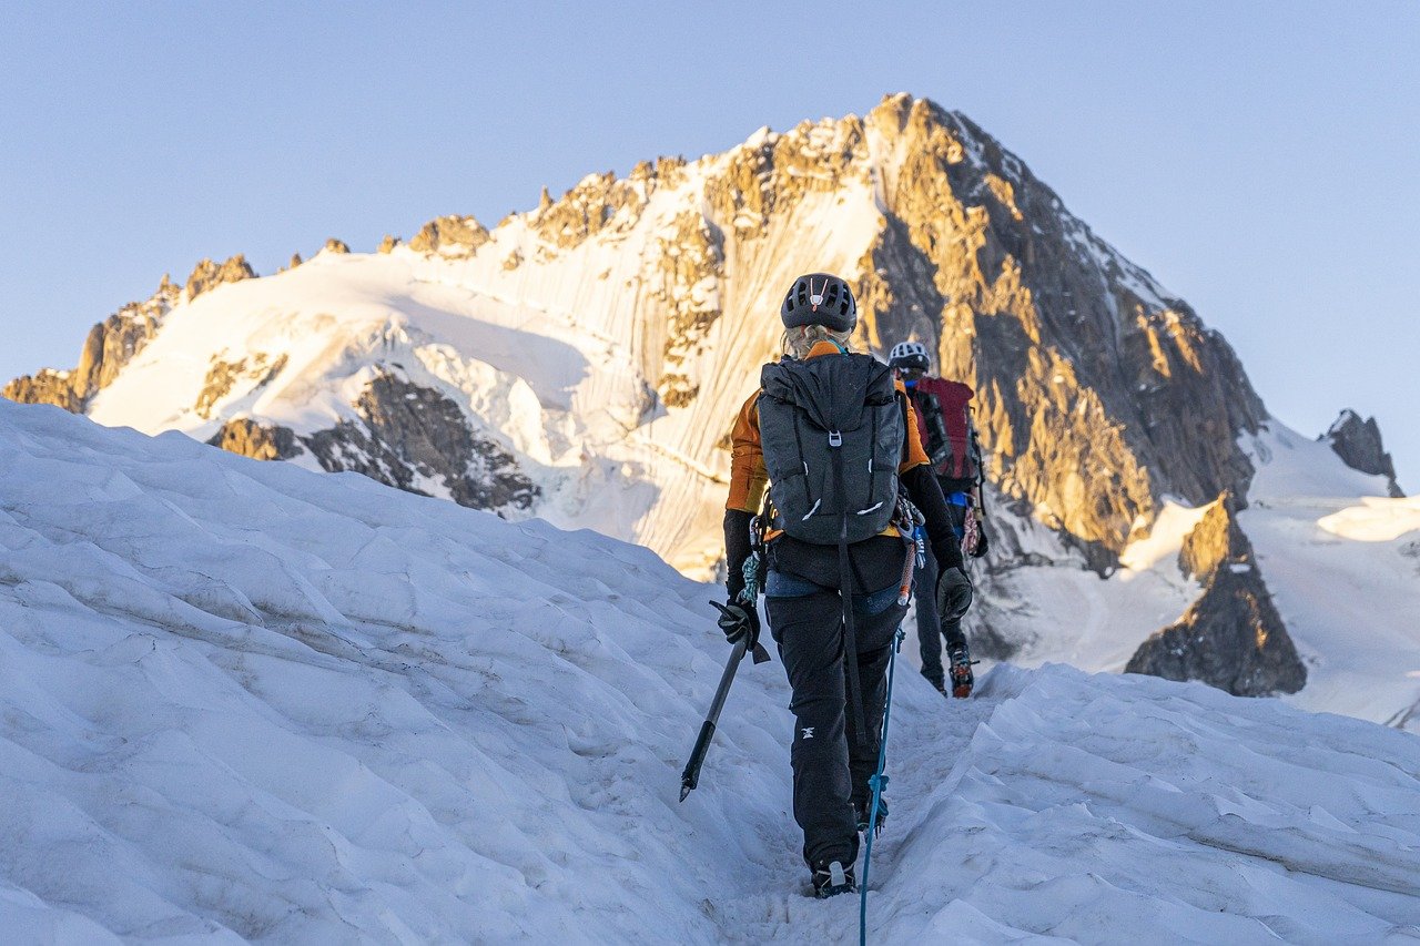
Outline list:
[[[760,386],[772,527],[816,545],[888,528],[906,433],[892,369],[872,355],[784,359]]]

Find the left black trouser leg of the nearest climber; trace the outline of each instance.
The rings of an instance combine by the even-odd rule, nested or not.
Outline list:
[[[770,632],[794,687],[794,821],[804,831],[804,861],[852,864],[858,822],[851,803],[845,729],[842,601],[836,591],[765,598]]]

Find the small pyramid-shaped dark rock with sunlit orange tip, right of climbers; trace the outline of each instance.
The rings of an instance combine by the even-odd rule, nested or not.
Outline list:
[[[1204,582],[1184,615],[1145,641],[1125,668],[1169,680],[1203,680],[1234,696],[1295,693],[1306,683],[1252,543],[1220,497],[1189,534],[1180,565]]]

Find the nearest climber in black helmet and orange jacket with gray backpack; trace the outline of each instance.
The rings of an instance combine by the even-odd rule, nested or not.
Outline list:
[[[794,689],[794,818],[814,889],[832,896],[855,889],[858,835],[869,827],[885,673],[916,558],[913,509],[941,562],[937,587],[919,594],[960,619],[971,582],[903,386],[852,352],[858,307],[848,284],[801,276],[780,318],[784,358],[763,368],[731,436],[730,599],[720,625],[731,642],[758,639],[758,614],[740,591],[768,487],[753,541],[763,540],[770,631]]]

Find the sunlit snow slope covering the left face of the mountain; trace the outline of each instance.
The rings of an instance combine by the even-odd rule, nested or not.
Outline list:
[[[882,226],[865,168],[862,180],[797,203],[785,220],[791,246],[740,253],[734,263],[754,278],[723,290],[713,280],[709,290],[676,284],[660,268],[674,271],[690,253],[677,230],[686,209],[747,146],[696,162],[625,226],[577,246],[554,250],[537,214],[514,214],[471,256],[322,251],[273,277],[219,286],[176,305],[88,413],[202,440],[244,415],[304,435],[355,419],[364,386],[395,368],[517,457],[542,490],[540,517],[636,541],[704,575],[721,554],[720,509],[706,497],[728,482],[717,443],[781,331],[763,314],[778,310],[799,273],[853,271]],[[699,298],[701,290],[713,297]],[[716,318],[703,339],[738,358],[679,364],[700,392],[682,411],[655,393],[666,359],[660,310],[670,304],[740,315]],[[217,393],[209,372],[224,361],[243,368]],[[320,469],[311,453],[295,462]],[[420,489],[449,497],[437,482]]]

